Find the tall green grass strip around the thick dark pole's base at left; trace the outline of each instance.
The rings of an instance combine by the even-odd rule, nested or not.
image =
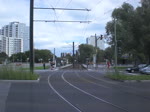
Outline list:
[[[37,80],[38,75],[22,69],[3,66],[0,68],[0,80]]]

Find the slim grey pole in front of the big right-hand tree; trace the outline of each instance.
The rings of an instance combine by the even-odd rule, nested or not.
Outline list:
[[[116,19],[114,18],[114,36],[115,36],[115,72],[117,72],[117,37],[116,37]]]

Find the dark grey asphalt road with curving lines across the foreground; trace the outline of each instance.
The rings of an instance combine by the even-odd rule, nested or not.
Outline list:
[[[5,112],[150,112],[149,82],[117,82],[103,72],[39,72],[39,83],[12,83]]]

